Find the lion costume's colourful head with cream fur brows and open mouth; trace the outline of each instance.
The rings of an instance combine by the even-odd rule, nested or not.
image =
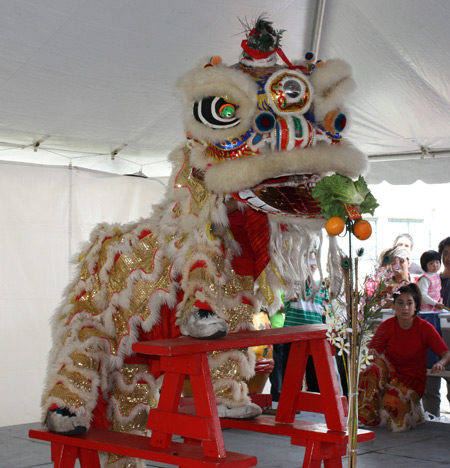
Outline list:
[[[261,51],[264,28],[272,42]],[[311,196],[315,184],[324,175],[356,178],[367,169],[366,157],[342,137],[351,68],[311,54],[291,63],[280,36],[263,21],[249,28],[238,63],[213,57],[178,81],[190,163],[215,193],[275,215],[322,218]]]

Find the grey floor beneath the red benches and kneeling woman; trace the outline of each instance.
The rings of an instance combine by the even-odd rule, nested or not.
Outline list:
[[[314,413],[302,413],[297,418],[323,422],[323,416]],[[49,445],[28,438],[28,430],[37,427],[36,423],[0,428],[0,468],[53,467]],[[450,466],[450,424],[426,422],[412,431],[397,434],[378,427],[374,432],[375,440],[358,447],[359,468]],[[226,429],[223,434],[227,450],[256,455],[258,468],[302,466],[304,449],[290,445],[288,437],[234,429]],[[344,459],[343,466],[346,464]],[[147,462],[149,468],[168,466]]]

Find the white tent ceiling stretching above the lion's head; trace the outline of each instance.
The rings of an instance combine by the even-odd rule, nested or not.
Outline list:
[[[286,30],[291,60],[321,32],[319,58],[353,66],[347,136],[371,157],[369,182],[450,181],[447,0],[5,2],[0,159],[169,175],[183,141],[176,79],[204,56],[236,62],[238,18],[261,12]]]

